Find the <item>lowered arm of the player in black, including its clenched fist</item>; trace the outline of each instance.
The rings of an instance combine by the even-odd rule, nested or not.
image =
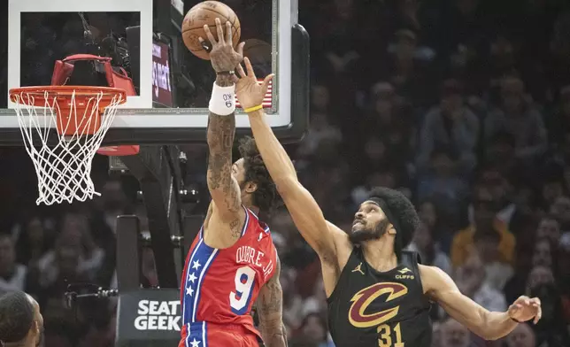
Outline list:
[[[435,266],[421,266],[424,291],[451,317],[486,340],[497,340],[514,330],[517,321],[540,320],[542,311],[538,298],[519,297],[507,312],[489,312],[461,294],[448,274]]]

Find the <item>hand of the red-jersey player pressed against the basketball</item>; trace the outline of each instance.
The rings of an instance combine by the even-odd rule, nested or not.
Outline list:
[[[204,49],[210,50],[210,60],[212,61],[212,67],[216,73],[234,72],[235,67],[239,66],[243,60],[243,45],[245,45],[245,42],[238,44],[237,50],[234,49],[232,42],[232,24],[229,21],[226,21],[225,36],[219,18],[216,19],[216,30],[218,32],[217,41],[210,31],[210,27],[204,25],[206,38],[210,43],[208,44],[202,37],[199,37],[198,40]]]

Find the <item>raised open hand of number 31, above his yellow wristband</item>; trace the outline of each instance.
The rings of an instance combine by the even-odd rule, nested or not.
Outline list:
[[[263,82],[259,84],[258,78],[253,72],[250,59],[246,57],[243,59],[243,62],[245,63],[247,73],[243,71],[241,64],[236,66],[240,79],[235,85],[235,95],[240,104],[242,104],[243,110],[247,110],[263,103],[263,98],[266,96],[267,88],[269,88],[269,81],[275,75],[273,73],[267,75]]]

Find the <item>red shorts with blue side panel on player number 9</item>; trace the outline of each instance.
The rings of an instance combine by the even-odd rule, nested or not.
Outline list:
[[[189,323],[178,347],[259,347],[258,336],[241,325]]]

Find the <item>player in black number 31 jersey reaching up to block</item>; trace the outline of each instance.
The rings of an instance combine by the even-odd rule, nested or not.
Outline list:
[[[519,297],[507,312],[489,312],[461,294],[442,270],[423,266],[417,253],[403,251],[419,218],[396,190],[374,189],[360,204],[348,234],[325,220],[260,107],[273,75],[258,85],[249,59],[244,60],[247,74],[237,68],[242,78],[236,95],[251,110],[251,130],[291,217],[319,254],[336,347],[429,347],[432,301],[488,340],[509,334],[523,321],[540,319],[538,298]]]

